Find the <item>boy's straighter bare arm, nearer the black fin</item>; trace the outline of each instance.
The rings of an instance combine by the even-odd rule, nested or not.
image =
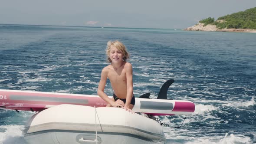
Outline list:
[[[133,83],[132,83],[132,65],[131,63],[127,63],[125,65],[126,69],[126,85],[127,85],[127,94],[126,94],[126,102],[125,102],[125,109],[129,108],[131,104],[131,98],[133,94]]]

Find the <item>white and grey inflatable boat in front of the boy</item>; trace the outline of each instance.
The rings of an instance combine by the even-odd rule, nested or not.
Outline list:
[[[28,144],[163,144],[157,121],[122,108],[57,105],[27,122]]]

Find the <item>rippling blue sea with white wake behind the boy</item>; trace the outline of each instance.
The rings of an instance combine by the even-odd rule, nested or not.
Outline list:
[[[256,143],[256,33],[0,24],[0,89],[91,95],[116,39],[131,54],[135,97],[157,98],[174,79],[167,97],[196,105],[181,128],[163,127],[167,144]],[[24,144],[33,114],[0,109],[0,144]]]

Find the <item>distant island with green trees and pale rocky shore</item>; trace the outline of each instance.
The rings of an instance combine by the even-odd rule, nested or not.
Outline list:
[[[216,21],[208,17],[183,30],[256,33],[256,7],[221,16]]]

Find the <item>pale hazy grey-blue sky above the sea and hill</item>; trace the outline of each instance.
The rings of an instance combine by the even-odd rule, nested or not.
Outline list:
[[[256,7],[256,0],[0,0],[0,23],[186,28]]]

